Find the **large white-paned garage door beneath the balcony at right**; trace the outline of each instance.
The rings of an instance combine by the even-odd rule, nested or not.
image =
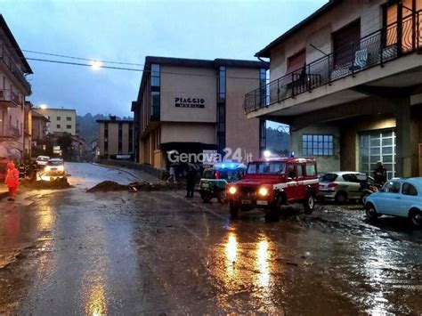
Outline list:
[[[360,134],[360,171],[373,175],[377,161],[384,163],[387,178],[395,176],[395,133],[394,130],[372,131]]]

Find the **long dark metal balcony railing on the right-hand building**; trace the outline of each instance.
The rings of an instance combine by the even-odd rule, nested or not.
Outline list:
[[[329,85],[333,81],[407,53],[418,51],[422,45],[422,11],[414,12],[398,22],[364,36],[358,43],[345,46],[296,69],[267,85],[245,95],[244,110],[248,114],[274,103],[294,98],[297,94]]]

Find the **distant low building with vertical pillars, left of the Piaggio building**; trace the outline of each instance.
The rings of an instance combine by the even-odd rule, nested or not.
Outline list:
[[[134,159],[134,121],[110,117],[97,123],[100,158]]]

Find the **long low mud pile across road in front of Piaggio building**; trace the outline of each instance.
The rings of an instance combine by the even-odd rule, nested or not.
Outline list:
[[[167,183],[167,182],[131,182],[128,185],[119,184],[113,181],[103,181],[93,186],[93,188],[86,190],[88,193],[94,192],[110,192],[128,190],[130,192],[137,191],[152,191],[152,190],[183,190],[185,184],[183,182]]]

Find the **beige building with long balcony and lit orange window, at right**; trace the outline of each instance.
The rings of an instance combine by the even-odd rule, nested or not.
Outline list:
[[[249,118],[291,126],[296,156],[320,172],[422,175],[422,1],[331,0],[275,39]]]

